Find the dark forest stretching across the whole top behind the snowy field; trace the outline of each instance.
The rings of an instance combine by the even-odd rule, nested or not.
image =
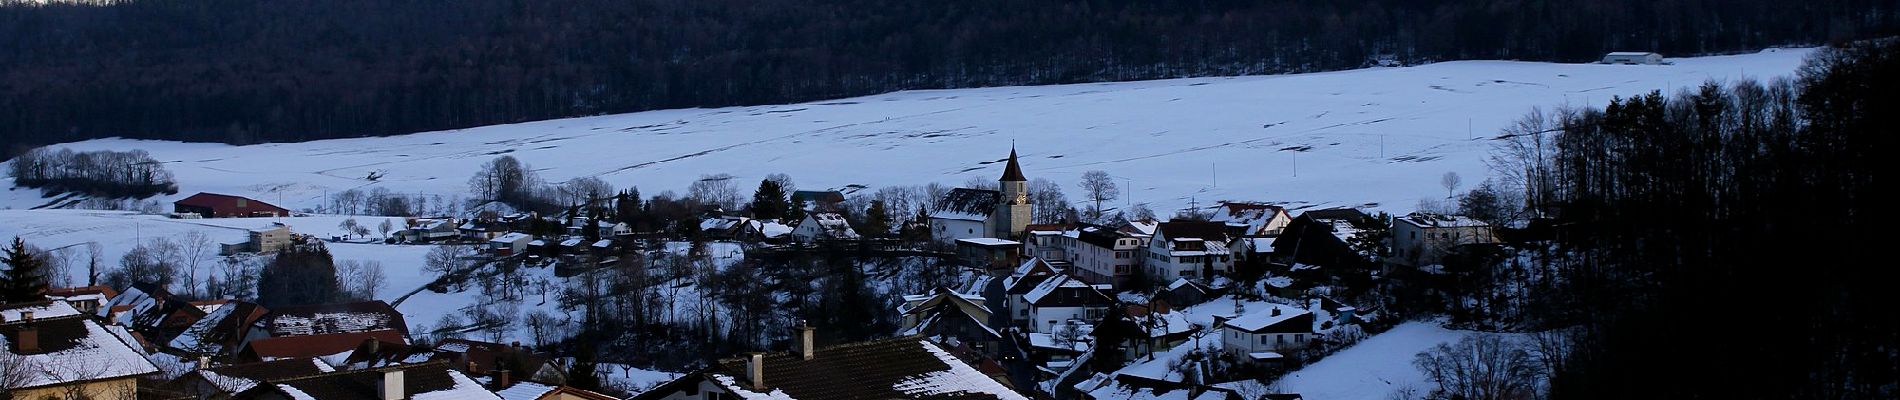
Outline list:
[[[1890,34],[1894,0],[0,0],[0,150]]]

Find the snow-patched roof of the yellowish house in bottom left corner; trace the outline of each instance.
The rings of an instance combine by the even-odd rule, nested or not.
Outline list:
[[[63,305],[63,303],[61,303]],[[4,305],[0,309],[17,309]],[[28,303],[27,307],[40,307]],[[32,330],[38,349],[21,349],[21,332]],[[6,389],[32,389],[48,385],[66,385],[80,381],[120,379],[156,373],[158,366],[144,358],[144,353],[114,336],[106,326],[78,313],[32,320],[8,320],[0,324],[6,337],[0,356],[11,358],[8,368],[23,372],[21,379],[4,381]]]

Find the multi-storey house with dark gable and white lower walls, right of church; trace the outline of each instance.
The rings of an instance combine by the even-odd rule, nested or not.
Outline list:
[[[1146,269],[1157,282],[1212,279],[1233,271],[1227,227],[1220,222],[1161,222],[1148,241]]]

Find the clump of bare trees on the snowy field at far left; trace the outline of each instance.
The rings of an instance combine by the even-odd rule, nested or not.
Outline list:
[[[171,171],[144,150],[131,152],[49,152],[34,148],[8,165],[15,186],[38,188],[48,195],[86,193],[97,197],[150,197],[179,193]]]

